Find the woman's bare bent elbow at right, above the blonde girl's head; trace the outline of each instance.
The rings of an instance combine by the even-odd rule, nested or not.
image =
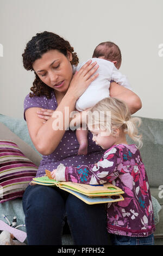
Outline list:
[[[115,82],[111,82],[109,91],[110,97],[116,97],[117,99],[123,100],[127,103],[131,114],[134,114],[135,112],[139,111],[139,109],[141,109],[142,102],[140,97],[131,90],[120,86]]]

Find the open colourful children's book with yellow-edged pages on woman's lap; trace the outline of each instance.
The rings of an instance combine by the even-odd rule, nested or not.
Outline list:
[[[32,182],[44,186],[58,186],[74,196],[80,198],[87,204],[112,203],[124,200],[121,194],[124,192],[110,183],[100,185],[86,185],[74,182],[55,181],[49,170],[47,176],[33,178]]]

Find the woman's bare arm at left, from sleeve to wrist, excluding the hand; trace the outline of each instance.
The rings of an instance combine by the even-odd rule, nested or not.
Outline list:
[[[66,108],[71,112],[74,110],[75,104],[75,98],[70,95],[65,95],[58,108],[53,112],[54,114],[58,111],[58,113],[60,113],[60,117],[62,118],[62,120],[60,119],[60,124],[63,125],[60,127],[60,130],[53,129],[53,122],[55,122],[57,119],[59,120],[59,115],[56,115],[56,117],[52,115],[49,117],[46,123],[43,123],[44,120],[37,116],[37,111],[41,111],[41,108],[33,107],[27,109],[25,114],[29,135],[35,148],[40,154],[49,155],[55,150],[55,148],[58,147],[61,138],[64,136],[68,123],[70,122]]]

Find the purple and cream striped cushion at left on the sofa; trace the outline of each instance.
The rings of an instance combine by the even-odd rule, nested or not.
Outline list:
[[[0,203],[22,197],[37,166],[12,141],[0,140]]]

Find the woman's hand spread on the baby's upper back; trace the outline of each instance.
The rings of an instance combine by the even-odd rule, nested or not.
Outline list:
[[[93,82],[98,74],[95,74],[99,65],[97,62],[91,63],[92,60],[86,62],[82,68],[73,75],[73,78],[68,87],[68,93],[73,95],[76,100],[85,92],[86,88],[89,87],[90,83]],[[93,75],[95,74],[95,75]]]

